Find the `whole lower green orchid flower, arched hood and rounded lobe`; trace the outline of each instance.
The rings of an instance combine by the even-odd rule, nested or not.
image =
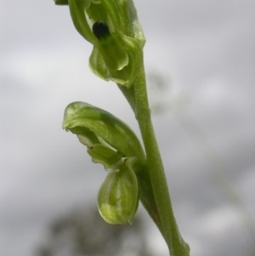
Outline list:
[[[110,224],[131,224],[139,204],[136,173],[145,166],[144,151],[133,131],[111,113],[83,102],[65,109],[63,127],[77,134],[93,162],[108,172],[99,189],[99,213]]]

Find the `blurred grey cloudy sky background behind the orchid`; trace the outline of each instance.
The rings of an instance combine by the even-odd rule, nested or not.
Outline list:
[[[139,134],[118,88],[89,71],[92,47],[69,9],[0,2],[1,255],[166,256],[142,206],[131,227],[99,219],[105,171],[61,128],[65,106],[82,100]],[[191,255],[254,256],[255,2],[134,3],[156,134]]]

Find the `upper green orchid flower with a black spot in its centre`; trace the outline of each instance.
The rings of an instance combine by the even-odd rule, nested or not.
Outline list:
[[[94,73],[130,88],[142,65],[144,46],[133,2],[69,0],[68,3],[77,31],[94,44],[89,59]]]

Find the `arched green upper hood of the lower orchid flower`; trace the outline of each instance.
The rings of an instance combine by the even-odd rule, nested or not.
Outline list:
[[[83,102],[73,102],[65,109],[63,127],[77,134],[94,162],[105,169],[119,168],[125,158],[133,166],[142,166],[145,156],[139,139],[131,128],[111,113]]]

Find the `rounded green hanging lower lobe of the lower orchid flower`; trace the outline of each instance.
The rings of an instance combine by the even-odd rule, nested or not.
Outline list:
[[[138,181],[132,169],[124,165],[107,175],[98,195],[99,213],[106,222],[132,224],[138,204]]]

